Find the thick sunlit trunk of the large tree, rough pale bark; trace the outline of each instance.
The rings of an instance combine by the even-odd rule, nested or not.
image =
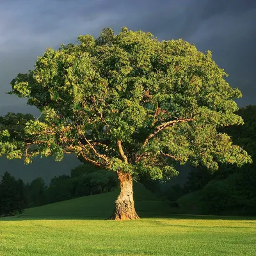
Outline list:
[[[120,180],[120,194],[115,202],[115,210],[109,220],[137,220],[134,208],[132,177],[130,173],[117,172]]]

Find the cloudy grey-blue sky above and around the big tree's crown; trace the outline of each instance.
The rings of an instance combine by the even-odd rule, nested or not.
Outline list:
[[[123,26],[212,51],[228,83],[243,93],[239,106],[256,104],[255,24],[256,0],[0,0],[0,115],[38,115],[6,92],[47,47],[76,42],[79,35],[97,38],[106,27],[118,33]]]

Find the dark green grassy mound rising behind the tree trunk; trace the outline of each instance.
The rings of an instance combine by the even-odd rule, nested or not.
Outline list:
[[[26,209],[20,218],[43,219],[106,219],[113,209],[119,191],[83,196]],[[134,201],[139,216],[164,216],[171,209],[142,184],[134,182]]]

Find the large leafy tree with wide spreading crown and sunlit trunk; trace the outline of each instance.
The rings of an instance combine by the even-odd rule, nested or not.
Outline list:
[[[177,174],[176,162],[218,169],[251,161],[219,127],[243,124],[237,88],[211,52],[184,40],[159,41],[150,33],[106,28],[98,39],[47,49],[35,69],[18,74],[12,92],[42,115],[9,113],[0,119],[0,149],[9,159],[74,153],[116,172],[120,195],[111,219],[137,219],[132,177]]]

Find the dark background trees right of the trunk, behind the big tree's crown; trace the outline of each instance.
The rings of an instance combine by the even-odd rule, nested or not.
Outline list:
[[[163,196],[177,211],[187,214],[255,215],[256,214],[256,106],[238,111],[244,125],[226,127],[236,145],[243,147],[253,163],[241,168],[221,164],[217,172],[192,168],[184,186],[163,186],[148,182],[148,188]],[[146,182],[146,184],[147,184]]]

